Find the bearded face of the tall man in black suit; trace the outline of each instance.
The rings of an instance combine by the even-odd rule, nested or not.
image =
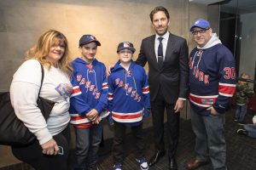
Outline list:
[[[162,36],[168,30],[169,20],[163,11],[159,11],[153,15],[152,26],[154,31]]]

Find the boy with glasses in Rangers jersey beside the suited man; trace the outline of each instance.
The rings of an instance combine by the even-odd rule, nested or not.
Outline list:
[[[131,60],[134,52],[135,48],[131,42],[119,43],[119,61],[108,77],[108,109],[111,113],[108,118],[114,125],[114,170],[121,170],[124,161],[126,127],[131,127],[136,139],[136,156],[140,168],[148,169],[148,162],[143,153],[143,117],[147,117],[150,112],[148,78],[143,67]]]

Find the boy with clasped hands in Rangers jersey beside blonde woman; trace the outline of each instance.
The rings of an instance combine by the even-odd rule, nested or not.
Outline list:
[[[76,133],[74,169],[98,169],[97,151],[102,141],[102,113],[108,105],[106,67],[95,59],[101,43],[92,35],[79,40],[81,57],[73,60],[70,99],[71,124]]]

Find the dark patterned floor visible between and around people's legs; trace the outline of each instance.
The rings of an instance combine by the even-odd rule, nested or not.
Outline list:
[[[226,142],[227,142],[227,166],[229,170],[254,170],[256,168],[256,139],[251,139],[246,136],[236,134],[237,128],[240,126],[233,121],[234,110],[226,114]],[[247,120],[251,121],[252,115],[247,115]],[[146,156],[149,159],[154,153],[153,133],[152,129],[145,129],[146,137]],[[111,140],[104,142],[104,147],[100,150],[100,164],[101,170],[112,169],[113,160],[111,157]],[[134,158],[135,148],[132,146],[134,142],[131,135],[128,134],[126,138],[126,155],[123,170],[136,170],[139,169],[137,162]],[[181,121],[180,124],[180,139],[177,149],[177,164],[179,170],[185,170],[185,161],[195,156],[194,152],[195,136],[192,132],[190,121]],[[69,167],[73,164],[73,150],[69,159]],[[168,169],[167,156],[161,159],[157,165],[150,167],[151,170],[166,170]],[[26,166],[24,163],[3,167],[0,170],[20,170],[32,168]],[[211,170],[211,165],[199,168],[198,170]]]

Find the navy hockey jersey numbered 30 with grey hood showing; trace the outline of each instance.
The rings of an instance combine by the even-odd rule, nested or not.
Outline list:
[[[209,115],[210,106],[218,113],[227,111],[236,91],[235,66],[233,55],[216,34],[204,48],[194,48],[189,56],[191,108],[201,115]]]

